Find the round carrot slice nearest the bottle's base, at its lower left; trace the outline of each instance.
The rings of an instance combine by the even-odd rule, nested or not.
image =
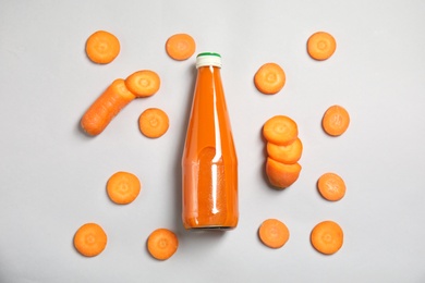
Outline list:
[[[177,235],[168,229],[157,229],[150,233],[147,239],[149,254],[158,259],[169,259],[178,250],[179,239]]]

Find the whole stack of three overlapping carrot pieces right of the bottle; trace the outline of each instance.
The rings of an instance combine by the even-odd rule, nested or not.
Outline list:
[[[275,115],[263,126],[266,139],[266,174],[274,187],[291,186],[300,176],[302,167],[299,163],[303,144],[299,138],[295,121],[286,115]]]

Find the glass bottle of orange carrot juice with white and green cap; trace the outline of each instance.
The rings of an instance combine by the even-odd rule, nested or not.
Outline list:
[[[197,78],[182,158],[183,225],[229,230],[238,224],[238,158],[224,91],[221,57],[196,57]]]

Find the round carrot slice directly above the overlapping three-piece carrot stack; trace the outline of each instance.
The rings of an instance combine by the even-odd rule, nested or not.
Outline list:
[[[284,72],[276,63],[266,63],[262,65],[254,76],[254,84],[258,91],[265,95],[275,95],[279,93],[287,81]]]

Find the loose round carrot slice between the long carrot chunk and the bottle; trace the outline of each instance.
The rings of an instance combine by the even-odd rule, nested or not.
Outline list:
[[[168,131],[168,115],[158,108],[146,109],[138,119],[138,127],[147,137],[160,137]]]

